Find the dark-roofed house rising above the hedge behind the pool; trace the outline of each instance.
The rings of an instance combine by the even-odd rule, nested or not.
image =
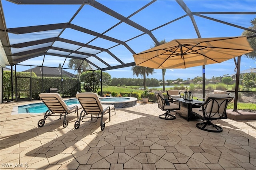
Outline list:
[[[42,75],[42,67],[34,67],[31,69],[31,71],[34,72],[38,77],[61,77],[61,70],[61,68],[44,67]],[[30,72],[30,69],[22,72]],[[77,75],[62,70],[62,77],[76,78]]]

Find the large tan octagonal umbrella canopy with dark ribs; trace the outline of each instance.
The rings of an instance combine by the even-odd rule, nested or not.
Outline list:
[[[136,65],[154,69],[221,63],[253,51],[246,36],[172,40],[134,54]]]

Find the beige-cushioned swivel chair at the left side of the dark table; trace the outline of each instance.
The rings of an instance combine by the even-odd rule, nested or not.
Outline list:
[[[172,115],[172,111],[180,110],[180,102],[173,101],[172,99],[164,99],[162,92],[156,93],[156,101],[158,108],[162,111],[166,111],[164,114],[159,115],[160,119],[173,120],[176,119],[175,115]]]

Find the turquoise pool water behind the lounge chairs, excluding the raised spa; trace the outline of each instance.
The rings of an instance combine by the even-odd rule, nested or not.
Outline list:
[[[77,99],[66,100],[67,105],[79,104]],[[19,106],[18,113],[45,113],[48,110],[44,103],[32,103],[29,105]]]

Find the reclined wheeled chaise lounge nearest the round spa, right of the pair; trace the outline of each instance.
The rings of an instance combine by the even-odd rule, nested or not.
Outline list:
[[[96,122],[100,117],[100,127],[101,127],[101,130],[104,130],[105,122],[103,122],[103,116],[106,113],[109,113],[109,121],[110,121],[110,111],[112,109],[114,109],[114,112],[116,115],[116,109],[114,105],[102,105],[97,93],[77,93],[76,98],[81,104],[83,110],[80,113],[79,119],[75,122],[75,129],[79,128],[80,121],[88,122],[88,121],[83,121],[83,119],[86,117],[91,118],[91,121],[89,122]],[[91,116],[87,116],[87,115],[91,115]],[[93,115],[97,115],[97,116],[93,117]],[[93,118],[96,118],[96,121],[92,121]]]

